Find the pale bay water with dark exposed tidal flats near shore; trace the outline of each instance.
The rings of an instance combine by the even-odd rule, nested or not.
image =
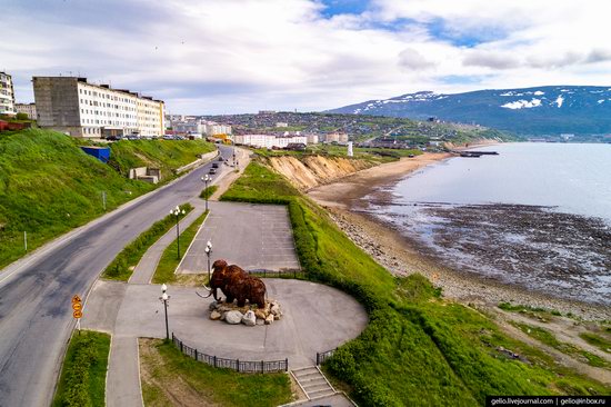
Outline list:
[[[611,145],[475,150],[499,155],[420,169],[368,210],[460,271],[611,305]]]

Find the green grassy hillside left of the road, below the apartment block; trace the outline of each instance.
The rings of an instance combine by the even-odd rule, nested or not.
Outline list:
[[[30,129],[0,135],[0,268],[28,250],[156,187],[129,180],[128,167],[147,162],[171,173],[214,149],[203,141],[120,141],[111,146],[114,168],[86,155],[82,141]],[[112,163],[112,162],[111,162]]]

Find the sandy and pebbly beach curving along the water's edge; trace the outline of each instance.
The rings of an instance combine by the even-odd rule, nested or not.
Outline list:
[[[417,247],[373,216],[359,210],[358,200],[380,187],[390,186],[431,163],[454,157],[450,153],[424,153],[369,168],[337,182],[307,191],[324,207],[335,225],[375,261],[397,276],[420,272],[443,290],[445,298],[462,304],[497,308],[499,302],[571,312],[585,320],[611,319],[608,307],[554,297],[520,286],[502,284],[469,272],[445,267],[418,251]]]

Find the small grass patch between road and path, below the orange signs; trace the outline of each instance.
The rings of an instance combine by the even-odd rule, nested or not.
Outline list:
[[[109,353],[110,335],[74,331],[63,359],[52,406],[103,407]]]

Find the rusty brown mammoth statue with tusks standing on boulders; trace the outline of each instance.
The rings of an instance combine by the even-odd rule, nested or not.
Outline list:
[[[266,307],[266,285],[260,278],[250,276],[239,266],[228,266],[224,260],[212,264],[212,277],[210,279],[210,294],[219,300],[217,290],[220,289],[227,296],[227,302],[238,299],[238,306],[243,307],[247,299],[250,304]]]

